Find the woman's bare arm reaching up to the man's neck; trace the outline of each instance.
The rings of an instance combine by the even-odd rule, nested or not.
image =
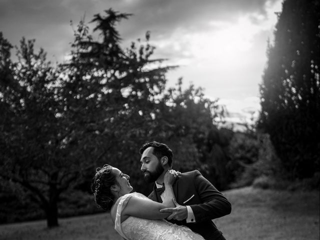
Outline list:
[[[169,212],[160,212],[159,210],[165,207],[174,207],[172,199],[174,198],[174,193],[172,189],[172,184],[175,180],[175,174],[168,171],[164,175],[164,185],[165,185],[165,197],[162,203],[152,201],[149,198],[139,198],[132,196],[126,207],[122,210],[123,215],[137,216],[141,218],[148,219],[161,219],[166,218],[170,215]]]

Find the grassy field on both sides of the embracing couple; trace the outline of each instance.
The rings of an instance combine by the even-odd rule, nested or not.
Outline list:
[[[215,219],[226,239],[319,239],[319,191],[290,192],[252,187],[223,192],[232,204],[230,215]],[[106,213],[0,225],[0,239],[122,240]]]

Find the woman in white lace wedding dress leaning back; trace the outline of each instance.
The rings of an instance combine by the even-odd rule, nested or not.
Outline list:
[[[155,202],[141,193],[132,192],[129,176],[105,164],[97,169],[92,183],[95,202],[110,212],[114,229],[127,240],[204,240],[186,226],[172,224],[164,218],[170,215],[159,210],[174,207],[172,184],[177,172],[168,170],[164,175],[165,198]]]

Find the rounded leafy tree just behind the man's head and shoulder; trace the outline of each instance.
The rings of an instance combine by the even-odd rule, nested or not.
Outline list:
[[[226,146],[231,137],[214,124],[215,117],[223,115],[217,101],[206,98],[203,89],[193,84],[182,90],[182,78],[178,79],[155,108],[157,127],[152,136],[172,148],[175,169],[199,169],[219,189],[225,189],[229,180]]]

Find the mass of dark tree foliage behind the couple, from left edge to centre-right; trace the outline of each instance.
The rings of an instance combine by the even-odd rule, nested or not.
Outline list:
[[[230,132],[213,124],[222,115],[217,100],[192,84],[182,90],[181,79],[165,90],[165,73],[176,66],[151,58],[149,32],[143,42],[120,46],[116,23],[128,16],[112,9],[94,15],[97,39],[82,19],[73,30],[70,61],[56,67],[24,38],[12,62],[12,45],[0,33],[0,177],[11,182],[6,190],[13,190],[14,202],[44,209],[49,227],[58,215],[71,214],[66,208],[92,210],[84,195],[104,163],[130,173],[135,190],[147,194],[138,149],[151,140],[173,149],[176,169],[214,171],[211,180],[226,186]],[[75,197],[79,190],[86,191],[83,199]]]

